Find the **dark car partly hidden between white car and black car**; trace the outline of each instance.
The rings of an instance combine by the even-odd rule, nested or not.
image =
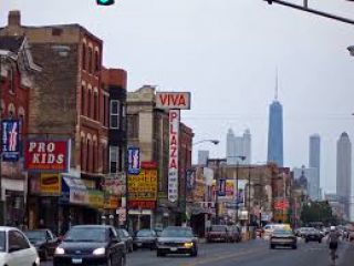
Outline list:
[[[24,231],[23,233],[35,247],[42,260],[46,260],[54,255],[60,241],[50,229]]]

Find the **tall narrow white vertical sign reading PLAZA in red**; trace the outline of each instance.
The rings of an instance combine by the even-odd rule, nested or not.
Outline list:
[[[169,110],[169,161],[168,161],[168,201],[178,200],[178,133],[179,133],[179,110]]]

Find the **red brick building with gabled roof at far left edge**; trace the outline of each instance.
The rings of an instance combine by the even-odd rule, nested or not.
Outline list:
[[[33,75],[40,71],[41,68],[32,61],[24,37],[0,37],[0,117],[1,121],[19,122],[19,127],[15,129],[20,141],[17,143],[19,150],[29,129],[29,95],[33,88]],[[2,133],[7,134],[6,131]],[[3,135],[1,137],[4,144]],[[27,198],[27,175],[23,173],[23,160],[19,155],[14,162],[7,162],[4,156],[0,162],[0,195],[4,202],[0,211],[1,224],[24,223],[22,209]]]

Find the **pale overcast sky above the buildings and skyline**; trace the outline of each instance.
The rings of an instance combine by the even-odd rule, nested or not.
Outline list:
[[[287,0],[301,3],[300,0]],[[354,2],[309,0],[314,9],[354,20]],[[22,24],[80,23],[104,42],[103,63],[125,69],[128,91],[191,92],[181,121],[211,157],[226,156],[228,129],[252,134],[252,162],[267,160],[269,104],[279,74],[284,165],[309,164],[309,136],[321,135],[321,186],[335,192],[336,141],[354,140],[354,25],[263,0],[0,0]],[[354,181],[353,181],[354,186]],[[354,190],[353,190],[354,191]]]

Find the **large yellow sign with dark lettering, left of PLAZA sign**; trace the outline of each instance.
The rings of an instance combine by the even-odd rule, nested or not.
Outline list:
[[[157,170],[140,170],[128,176],[129,201],[156,201]]]

